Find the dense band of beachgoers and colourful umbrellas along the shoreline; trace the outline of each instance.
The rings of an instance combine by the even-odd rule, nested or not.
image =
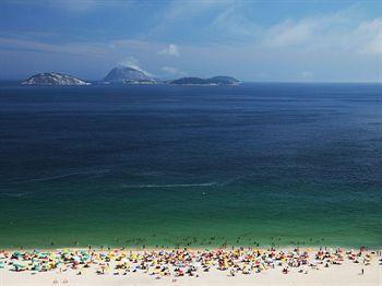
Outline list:
[[[291,269],[308,274],[310,270],[341,265],[345,260],[361,263],[365,267],[373,260],[382,265],[381,252],[343,249],[276,250],[271,249],[215,249],[215,250],[127,250],[127,249],[62,249],[57,251],[0,251],[0,269],[14,272],[94,271],[98,275],[143,272],[163,276],[195,276],[202,272],[225,271],[230,276],[249,275],[270,270],[288,274]]]

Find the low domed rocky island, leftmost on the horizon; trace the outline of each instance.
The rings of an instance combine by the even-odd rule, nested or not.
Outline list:
[[[80,80],[79,78],[58,73],[45,72],[37,73],[22,82],[25,85],[89,85],[91,83]]]

